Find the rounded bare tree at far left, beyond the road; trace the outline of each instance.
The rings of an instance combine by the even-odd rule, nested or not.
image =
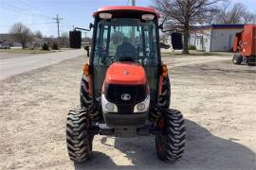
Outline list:
[[[22,23],[16,23],[11,26],[9,33],[12,34],[14,41],[22,44],[23,49],[26,48],[26,43],[31,42],[32,40],[32,33],[30,29]]]

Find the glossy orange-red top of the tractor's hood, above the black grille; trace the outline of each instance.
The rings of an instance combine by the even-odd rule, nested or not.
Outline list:
[[[137,62],[119,61],[109,66],[106,72],[107,84],[138,85],[146,84],[144,68]]]

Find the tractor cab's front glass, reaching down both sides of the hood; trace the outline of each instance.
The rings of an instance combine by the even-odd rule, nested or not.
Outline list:
[[[151,99],[156,98],[158,82],[158,45],[156,21],[137,18],[101,20],[96,29],[93,72],[94,92],[98,96],[107,68],[118,60],[139,62],[145,69],[151,88]]]

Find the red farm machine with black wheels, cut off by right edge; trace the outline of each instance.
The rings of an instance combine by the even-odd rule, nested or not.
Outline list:
[[[245,25],[242,32],[236,33],[233,41],[234,64],[243,61],[248,65],[256,64],[256,25]]]

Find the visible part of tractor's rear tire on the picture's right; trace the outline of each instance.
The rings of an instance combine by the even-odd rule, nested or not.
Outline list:
[[[163,77],[162,92],[159,95],[158,105],[162,108],[169,109],[171,103],[171,83],[167,75]]]

